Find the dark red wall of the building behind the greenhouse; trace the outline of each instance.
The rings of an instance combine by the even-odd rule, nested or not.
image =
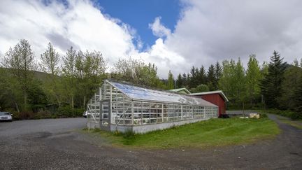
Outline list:
[[[196,97],[201,97],[202,99],[217,105],[219,108],[218,113],[220,115],[225,114],[225,103],[224,103],[224,99],[220,96],[220,94],[203,94],[203,95],[198,95]]]

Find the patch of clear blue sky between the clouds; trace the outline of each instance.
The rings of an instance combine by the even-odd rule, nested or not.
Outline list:
[[[178,0],[99,0],[97,1],[103,13],[118,18],[122,22],[131,25],[141,37],[143,49],[150,47],[157,40],[152,34],[149,24],[155,17],[161,17],[161,22],[173,31],[180,17],[182,3]],[[134,41],[134,43],[136,43]]]

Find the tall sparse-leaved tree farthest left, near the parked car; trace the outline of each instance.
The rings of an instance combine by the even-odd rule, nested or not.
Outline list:
[[[29,42],[22,39],[14,48],[10,48],[8,52],[6,52],[3,65],[10,69],[13,77],[17,80],[23,93],[23,108],[27,109],[29,87],[34,79],[33,71],[37,69],[34,52],[32,52]]]

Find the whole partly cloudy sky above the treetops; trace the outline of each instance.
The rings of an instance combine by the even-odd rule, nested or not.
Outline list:
[[[27,39],[36,58],[51,42],[64,55],[99,50],[110,66],[118,58],[189,72],[223,59],[268,61],[273,50],[286,62],[302,57],[300,0],[0,1],[0,56]],[[175,75],[176,76],[176,75]]]

